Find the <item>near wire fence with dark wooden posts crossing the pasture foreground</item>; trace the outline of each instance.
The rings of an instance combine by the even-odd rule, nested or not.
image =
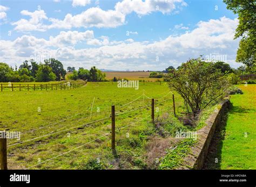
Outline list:
[[[172,97],[172,98],[167,98],[167,97],[168,97],[169,95],[171,95],[171,94],[172,94],[173,97]],[[136,95],[134,95],[134,97],[137,96],[137,95],[138,95],[138,93],[137,93]],[[120,109],[123,109],[125,106],[131,106],[132,103],[137,102],[137,101],[138,101],[139,99],[141,99],[141,98],[143,98],[143,104],[144,104],[144,100],[145,100],[145,99],[150,99],[151,104],[146,104],[146,105],[144,104],[143,106],[136,107],[136,109],[125,110],[125,111],[122,111],[122,112],[115,112],[114,105],[112,105],[112,111],[111,111],[111,113],[109,113],[108,116],[103,117],[103,118],[100,118],[100,119],[96,119],[96,120],[93,120],[93,121],[89,121],[89,122],[86,122],[86,123],[83,123],[83,124],[80,124],[80,125],[76,125],[76,124],[78,124],[78,122],[80,122],[81,120],[84,120],[84,119],[91,119],[91,117],[92,117],[92,112],[93,112],[93,107],[94,107],[93,104],[94,104],[94,102],[95,102],[95,98],[93,98],[92,104],[91,104],[91,106],[90,106],[87,110],[84,110],[83,112],[74,114],[74,115],[72,115],[72,116],[70,116],[70,117],[67,117],[67,118],[65,118],[65,119],[61,119],[61,120],[59,120],[59,121],[56,121],[55,123],[51,123],[51,124],[48,124],[48,125],[45,125],[45,126],[36,128],[35,130],[33,130],[33,132],[36,132],[36,131],[38,131],[38,130],[42,130],[42,129],[45,129],[45,128],[46,128],[46,129],[47,129],[47,128],[52,128],[52,126],[55,126],[56,124],[62,123],[63,121],[66,121],[66,120],[69,120],[69,119],[71,119],[71,118],[73,118],[73,117],[76,117],[76,116],[78,116],[79,114],[83,114],[83,116],[80,117],[80,118],[78,118],[78,120],[77,120],[76,122],[73,122],[72,124],[68,124],[68,125],[64,125],[64,124],[63,124],[62,127],[57,128],[57,129],[55,129],[54,131],[52,131],[52,132],[50,132],[50,133],[45,133],[45,134],[39,135],[39,136],[37,136],[37,137],[35,137],[35,138],[31,138],[31,139],[19,141],[19,142],[16,142],[16,143],[11,143],[11,144],[9,144],[9,145],[7,145],[6,142],[5,142],[5,145],[6,145],[5,150],[6,150],[7,148],[9,148],[9,147],[14,147],[14,146],[17,146],[17,145],[22,145],[23,143],[26,143],[26,142],[30,142],[31,144],[33,144],[33,142],[34,142],[35,140],[38,140],[38,139],[43,139],[43,138],[46,138],[46,137],[49,137],[49,136],[53,136],[53,135],[56,135],[56,134],[61,134],[61,133],[63,133],[63,132],[70,132],[71,130],[78,129],[79,127],[89,127],[89,125],[96,124],[96,123],[98,123],[98,122],[100,122],[100,121],[110,120],[110,119],[111,119],[111,132],[105,133],[105,134],[103,134],[103,135],[100,135],[97,139],[93,139],[93,140],[91,140],[91,141],[89,141],[89,142],[84,143],[83,145],[80,145],[80,146],[78,146],[78,147],[72,148],[72,149],[70,149],[70,150],[67,151],[67,152],[64,152],[64,153],[62,153],[62,154],[59,154],[59,155],[57,155],[57,156],[54,156],[54,157],[52,157],[52,158],[50,158],[50,159],[46,159],[45,161],[40,162],[40,163],[37,163],[37,164],[35,164],[35,165],[33,165],[33,166],[30,166],[30,167],[28,167],[28,168],[26,168],[26,169],[30,169],[30,168],[39,166],[40,164],[43,164],[43,163],[48,162],[48,161],[51,161],[51,160],[53,160],[53,159],[55,159],[55,158],[57,158],[57,157],[59,157],[59,156],[68,154],[68,153],[72,152],[73,150],[76,150],[76,149],[78,149],[78,148],[84,147],[85,145],[88,145],[89,143],[92,143],[92,142],[94,142],[94,141],[97,141],[97,140],[99,140],[100,138],[103,138],[104,136],[107,136],[107,135],[109,135],[109,134],[112,135],[112,138],[111,138],[111,145],[112,145],[112,149],[113,149],[113,147],[115,147],[115,132],[116,132],[116,131],[120,131],[120,130],[122,130],[123,128],[127,128],[127,127],[129,127],[129,126],[132,126],[132,125],[134,125],[134,124],[137,124],[137,123],[139,123],[139,122],[142,122],[143,120],[146,120],[146,119],[148,119],[148,118],[150,118],[150,117],[151,117],[152,123],[154,123],[155,110],[156,110],[156,108],[157,108],[157,110],[159,110],[159,107],[160,107],[160,106],[158,106],[159,104],[161,104],[161,103],[166,103],[166,102],[169,101],[169,100],[173,100],[173,103],[172,103],[172,104],[173,104],[173,108],[169,106],[169,107],[166,107],[165,109],[160,109],[160,111],[161,111],[161,112],[167,111],[167,112],[169,112],[169,113],[170,113],[170,112],[171,112],[171,113],[173,112],[174,116],[176,116],[176,111],[175,111],[176,106],[175,106],[175,102],[174,102],[174,95],[173,95],[173,93],[172,93],[171,91],[169,91],[169,92],[167,92],[167,93],[165,92],[165,93],[162,93],[162,94],[160,94],[160,95],[163,95],[163,96],[162,96],[162,97],[159,97],[159,98],[154,98],[154,99],[153,99],[153,98],[151,98],[151,97],[145,95],[145,91],[143,91],[143,94],[140,95],[139,97],[137,97],[136,99],[134,99],[134,100],[132,100],[131,102],[128,102],[128,103],[126,103],[126,104],[123,104],[123,105],[121,105],[121,106],[118,106],[118,107],[119,107]],[[164,98],[166,98],[166,99],[164,99]],[[164,99],[164,100],[163,100],[163,99]],[[148,102],[148,101],[149,101],[149,100],[147,100],[147,102]],[[136,105],[136,106],[137,106],[137,105]],[[139,111],[139,110],[143,110],[143,109],[149,109],[149,107],[151,107],[151,114],[150,114],[149,116],[146,116],[145,118],[139,119],[139,120],[137,120],[137,121],[134,121],[134,122],[131,123],[131,124],[128,124],[128,125],[125,125],[125,126],[122,126],[122,127],[119,127],[119,128],[116,128],[116,127],[115,127],[115,123],[116,123],[116,118],[115,118],[115,117],[119,117],[119,116],[122,116],[123,114],[127,114],[127,113],[132,113],[132,112],[134,112],[134,111]],[[97,107],[96,107],[96,108],[97,108]],[[109,109],[110,109],[110,107],[109,107]],[[173,111],[170,111],[171,109],[173,109]],[[89,115],[85,117],[85,111],[88,112],[89,110],[90,110]],[[156,112],[158,112],[158,111],[156,111]],[[73,125],[76,125],[76,126],[73,126]],[[71,126],[72,126],[72,127],[71,127]],[[0,133],[5,133],[5,132],[0,132]],[[26,133],[26,132],[25,132],[25,133]],[[25,134],[25,133],[24,133],[24,134]],[[2,134],[2,136],[4,137],[4,134]],[[6,141],[6,139],[0,139],[0,141]],[[113,145],[113,143],[114,143],[114,145]],[[0,142],[0,145],[4,145],[4,143],[1,144],[1,142]],[[114,149],[115,149],[115,148],[114,148]],[[4,149],[1,149],[1,152],[0,152],[0,154],[2,155],[2,156],[0,156],[0,157],[2,158],[2,161],[1,161],[1,162],[5,163],[5,162],[7,162],[7,155],[6,155],[2,150],[4,150]],[[4,155],[6,155],[6,156],[4,156]],[[7,163],[6,163],[6,167],[5,167],[5,164],[2,164],[1,166],[2,166],[1,169],[7,169]]]

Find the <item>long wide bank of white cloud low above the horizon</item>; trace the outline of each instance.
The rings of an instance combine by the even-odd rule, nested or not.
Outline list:
[[[109,41],[105,36],[95,38],[93,31],[60,32],[49,40],[24,35],[14,41],[1,41],[0,61],[14,66],[16,62],[28,60],[30,55],[47,54],[62,61],[64,66],[163,70],[167,66],[177,67],[191,57],[217,54],[226,55],[228,63],[239,66],[234,62],[239,44],[239,39],[233,40],[237,25],[238,19],[226,17],[199,21],[191,32],[170,35],[154,42],[136,42],[132,39]],[[76,48],[80,41],[93,47]],[[156,61],[156,56],[159,61]],[[97,57],[99,61],[96,61]]]

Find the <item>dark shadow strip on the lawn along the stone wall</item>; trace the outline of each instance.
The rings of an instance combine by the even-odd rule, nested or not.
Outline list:
[[[228,113],[232,113],[234,110],[236,112],[242,111],[242,109],[235,108],[232,104],[229,109],[225,110],[225,114],[221,119],[220,124],[216,127],[211,144],[208,148],[208,153],[204,162],[203,169],[220,169],[221,151],[223,148],[223,140],[225,139],[226,134]]]

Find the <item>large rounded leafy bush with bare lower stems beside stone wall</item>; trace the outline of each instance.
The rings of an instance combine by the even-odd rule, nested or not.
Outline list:
[[[230,87],[227,76],[201,57],[190,59],[165,76],[171,90],[184,99],[188,116],[195,117],[209,104],[223,98]]]

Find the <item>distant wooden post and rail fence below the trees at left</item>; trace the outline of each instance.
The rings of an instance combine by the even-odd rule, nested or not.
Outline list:
[[[51,90],[58,90],[58,88],[60,88],[60,90],[64,89],[75,89],[75,88],[80,88],[82,87],[82,85],[85,85],[87,83],[86,81],[80,82],[80,83],[59,83],[59,84],[21,84],[21,83],[1,83],[1,91],[4,90],[4,88],[8,88],[11,91],[14,91],[14,88],[18,88],[19,91],[23,89],[25,90],[30,90],[30,88],[35,91],[35,90],[47,90],[48,89],[48,85],[50,85]],[[55,86],[55,89],[53,89],[53,86]]]

